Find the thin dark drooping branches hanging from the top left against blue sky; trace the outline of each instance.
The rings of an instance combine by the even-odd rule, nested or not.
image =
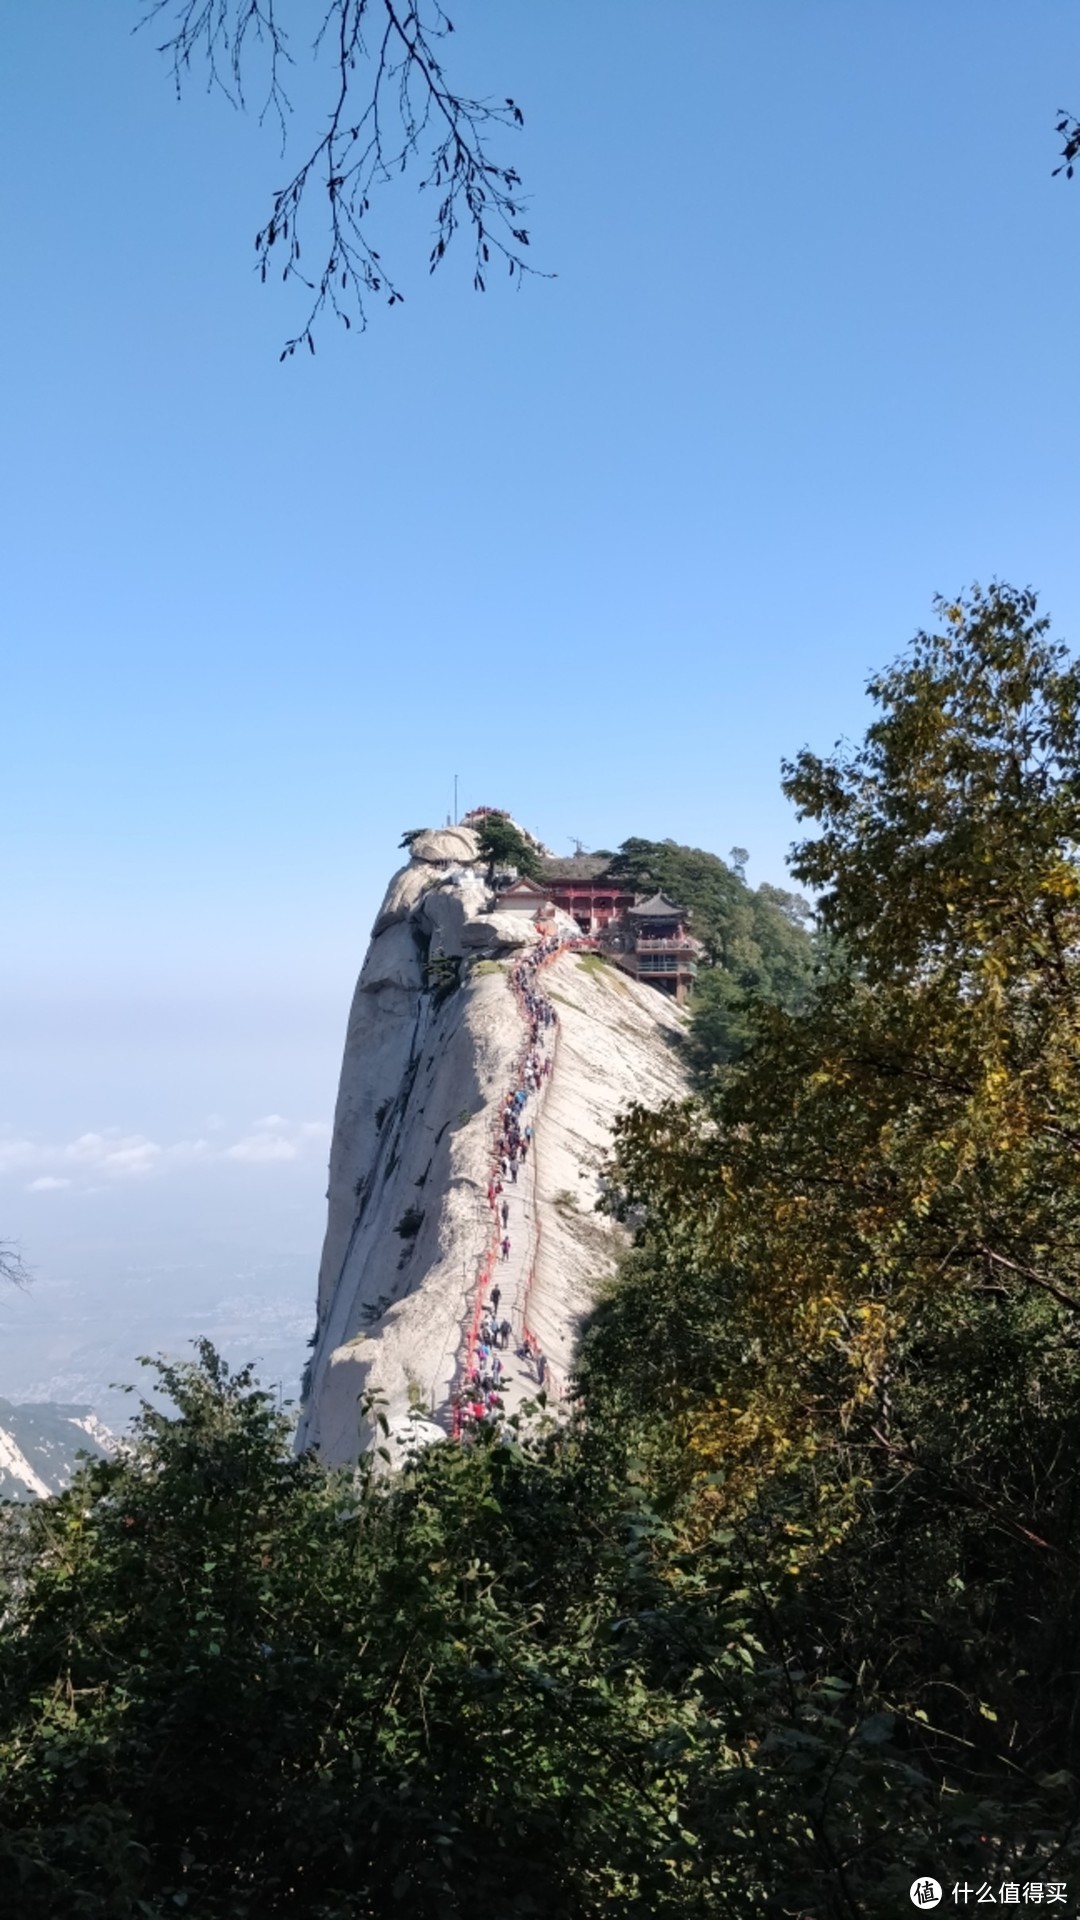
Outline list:
[[[171,33],[160,52],[171,61],[177,92],[202,67],[208,88],[233,106],[248,104],[248,75],[259,67],[259,121],[275,117],[282,134],[292,102],[284,73],[294,65],[277,0],[138,0],[140,27],[167,15]],[[298,4],[298,0],[294,0]],[[463,227],[473,236],[473,286],[484,292],[488,271],[503,261],[509,278],[536,273],[525,259],[528,230],[517,171],[490,156],[496,129],[523,125],[515,100],[492,104],[455,92],[442,63],[442,42],[454,23],[438,0],[329,0],[311,44],[317,56],[332,48],[334,94],[329,125],[286,186],[273,196],[271,217],[256,234],[256,265],[265,280],[281,265],[282,280],[298,280],[311,296],[307,319],[281,357],[298,346],[315,351],[315,323],[329,309],[352,326],[367,326],[367,301],[404,296],[369,238],[373,196],[421,171],[419,188],[434,188],[429,271],[444,259]],[[325,204],[323,194],[325,190]],[[321,265],[302,265],[302,221],[325,205],[327,228],[317,242]],[[306,238],[306,234],[304,234]],[[277,250],[277,252],[275,252]]]

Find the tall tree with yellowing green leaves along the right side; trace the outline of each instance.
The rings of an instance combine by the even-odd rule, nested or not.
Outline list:
[[[705,1565],[717,1528],[748,1542],[763,1640],[799,1686],[836,1680],[821,1764],[869,1716],[878,1757],[924,1782],[905,1818],[926,1860],[1065,1878],[1080,676],[1030,593],[938,611],[871,684],[865,743],[786,770],[819,826],[794,872],[846,968],[796,1014],[759,1006],[705,1098],[625,1123],[615,1173],[648,1215],[648,1284],[615,1290],[586,1363],[603,1396],[617,1356],[619,1392],[657,1409],[651,1471],[698,1490]],[[855,1901],[836,1910],[869,1910],[869,1859],[899,1893],[865,1786],[826,1822]]]

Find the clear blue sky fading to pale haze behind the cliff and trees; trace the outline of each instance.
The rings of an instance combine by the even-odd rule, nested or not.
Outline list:
[[[321,8],[284,13],[300,46]],[[281,1258],[282,1196],[309,1298],[354,975],[454,774],[559,852],[740,843],[782,881],[782,756],[861,732],[936,591],[1034,584],[1080,636],[1080,180],[1051,179],[1080,10],[452,13],[452,77],[525,108],[503,150],[555,278],[479,298],[461,252],[429,280],[405,180],[375,215],[404,307],[282,367],[273,132],[198,81],[177,104],[129,0],[4,8],[23,1329],[61,1284],[106,1302],[158,1223],[171,1338],[194,1223],[233,1286]],[[321,100],[302,67],[296,154]]]

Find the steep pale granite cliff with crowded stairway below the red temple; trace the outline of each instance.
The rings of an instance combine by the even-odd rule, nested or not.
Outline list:
[[[594,1212],[615,1116],[684,1091],[682,1014],[555,916],[498,912],[467,828],[413,835],[375,920],[352,1002],[300,1444],[356,1459],[357,1402],[392,1434],[452,1430],[480,1298],[511,1323],[507,1409],[567,1379],[577,1329],[621,1229]],[[500,1183],[507,1100],[530,1129]],[[505,1217],[503,1217],[505,1210]],[[509,1242],[503,1246],[502,1242]],[[494,1267],[492,1267],[494,1261]]]

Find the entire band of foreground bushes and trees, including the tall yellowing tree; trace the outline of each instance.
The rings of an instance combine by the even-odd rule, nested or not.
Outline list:
[[[8,1517],[2,1910],[1068,1910],[1080,676],[997,588],[872,697],[786,770],[844,966],[626,1117],[565,1428],[334,1476],[204,1348]]]

